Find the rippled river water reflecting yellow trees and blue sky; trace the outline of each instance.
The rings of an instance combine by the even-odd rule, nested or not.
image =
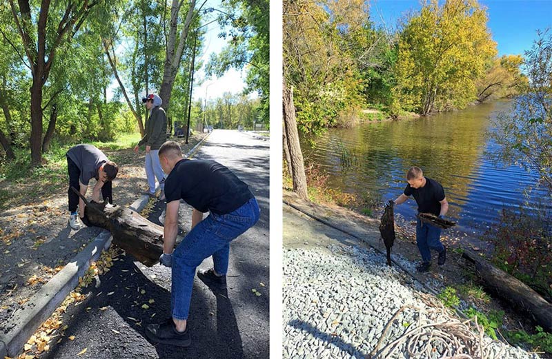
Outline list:
[[[315,147],[303,139],[302,148],[307,164],[316,163],[330,175],[329,187],[376,201],[399,196],[406,170],[421,167],[443,185],[447,216],[457,221],[457,229],[480,233],[497,223],[504,207],[531,208],[544,194],[534,189],[526,198],[524,191],[538,176],[493,160],[499,149],[485,133],[491,119],[510,106],[495,101],[411,121],[332,129],[315,139]],[[417,206],[412,198],[395,208],[414,218]]]

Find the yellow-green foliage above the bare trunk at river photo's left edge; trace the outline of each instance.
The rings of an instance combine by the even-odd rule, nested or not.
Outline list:
[[[284,81],[300,131],[356,121],[366,101],[353,53],[366,50],[367,19],[363,1],[284,1]]]

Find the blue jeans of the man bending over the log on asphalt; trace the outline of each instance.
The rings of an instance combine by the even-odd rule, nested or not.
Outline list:
[[[188,319],[195,269],[213,256],[215,271],[226,274],[230,242],[259,220],[260,209],[255,198],[229,214],[210,213],[184,237],[172,254],[170,311],[172,318]]]

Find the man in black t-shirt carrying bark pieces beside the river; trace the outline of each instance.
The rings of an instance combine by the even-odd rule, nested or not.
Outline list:
[[[404,188],[404,193],[395,199],[395,205],[400,205],[408,199],[408,196],[414,196],[418,205],[418,213],[431,213],[443,218],[449,211],[449,202],[444,196],[442,185],[431,178],[424,177],[424,173],[419,167],[411,167],[406,172],[406,181],[408,184]],[[422,223],[417,218],[416,223],[416,243],[422,263],[417,266],[418,271],[428,271],[431,266],[431,249],[439,253],[437,264],[444,265],[446,260],[446,247],[441,243],[441,229],[428,223]]]

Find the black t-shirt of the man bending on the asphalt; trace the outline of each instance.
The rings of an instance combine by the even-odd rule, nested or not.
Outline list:
[[[253,193],[218,162],[183,159],[165,180],[165,196],[167,203],[183,199],[198,211],[228,214],[253,198]]]

